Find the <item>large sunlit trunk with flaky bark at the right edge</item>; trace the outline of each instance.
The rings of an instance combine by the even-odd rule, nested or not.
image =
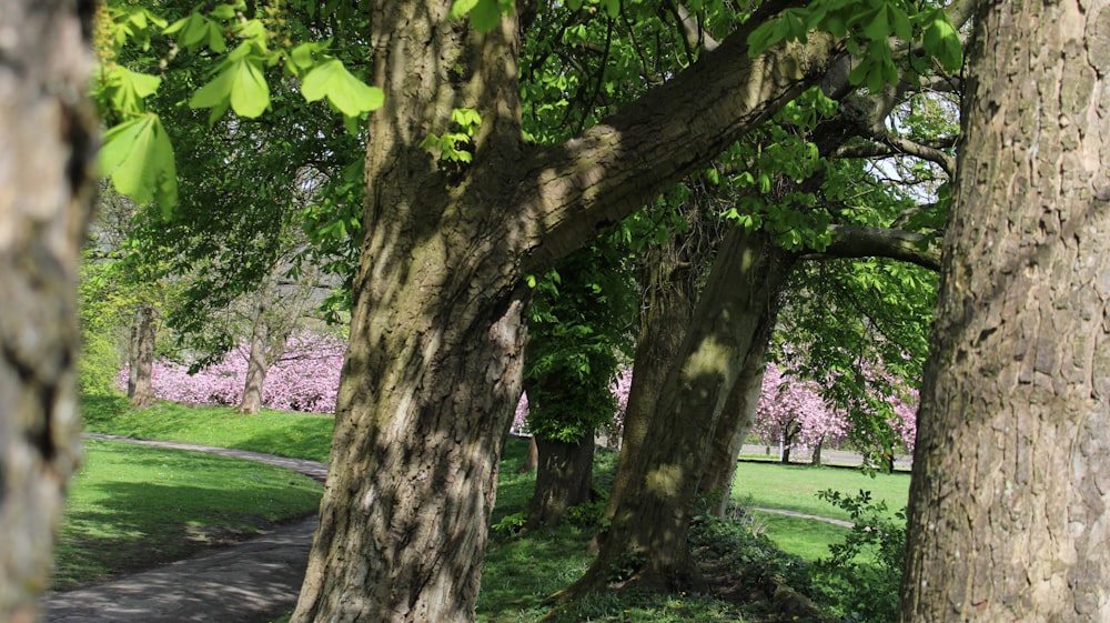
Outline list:
[[[975,23],[901,620],[1106,622],[1110,4]]]

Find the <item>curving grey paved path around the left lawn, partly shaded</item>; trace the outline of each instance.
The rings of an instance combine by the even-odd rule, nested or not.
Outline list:
[[[188,443],[100,434],[87,436],[260,461],[289,468],[321,482],[327,474],[327,466],[316,461]],[[43,620],[49,623],[271,621],[296,601],[315,526],[316,518],[305,519],[214,554],[50,594],[43,600]]]

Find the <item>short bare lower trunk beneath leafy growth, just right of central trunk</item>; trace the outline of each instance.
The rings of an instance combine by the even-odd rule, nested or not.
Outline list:
[[[594,435],[577,443],[533,436],[539,451],[536,492],[528,508],[528,527],[558,525],[571,506],[589,502],[594,483]]]

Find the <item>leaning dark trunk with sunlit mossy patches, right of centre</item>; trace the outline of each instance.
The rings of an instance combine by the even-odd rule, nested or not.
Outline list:
[[[602,587],[618,561],[635,562],[630,580],[639,585],[678,590],[696,583],[686,535],[698,479],[760,318],[774,308],[789,264],[760,234],[728,232],[659,394],[635,478],[597,560],[565,596]]]

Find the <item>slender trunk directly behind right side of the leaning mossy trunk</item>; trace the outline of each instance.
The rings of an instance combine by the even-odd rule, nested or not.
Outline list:
[[[763,373],[766,368],[767,346],[770,332],[775,328],[775,310],[768,310],[760,319],[760,326],[751,341],[751,348],[744,358],[744,368],[728,394],[725,409],[717,422],[717,432],[709,446],[709,459],[705,473],[698,482],[698,498],[706,501],[705,510],[724,516],[733,491],[733,476],[740,448],[756,421],[756,406],[763,390]]]

